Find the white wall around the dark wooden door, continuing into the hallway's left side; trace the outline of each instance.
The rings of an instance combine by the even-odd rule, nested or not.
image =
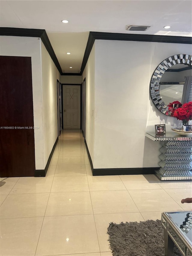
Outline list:
[[[46,159],[48,159],[47,155],[51,152],[51,144],[53,147],[53,141],[54,139],[56,140],[55,118],[57,119],[57,115],[53,117],[55,114],[55,98],[53,99],[53,97],[55,97],[54,86],[56,88],[56,80],[55,82],[53,81],[57,79],[58,73],[55,71],[53,63],[51,63],[52,60],[49,54],[45,52],[44,46],[41,47],[41,40],[38,38],[0,36],[0,54],[3,56],[28,56],[32,58],[34,126],[39,127],[39,129],[34,130],[35,168],[36,170],[44,169]],[[41,59],[43,67],[41,67]],[[49,67],[46,67],[45,63]],[[48,91],[46,86],[49,88]],[[48,99],[46,100],[46,97],[49,97],[49,100],[52,98],[51,104],[49,104]],[[46,108],[49,109],[50,117],[47,115]],[[51,140],[46,143],[45,140],[49,139],[48,134],[50,133]]]

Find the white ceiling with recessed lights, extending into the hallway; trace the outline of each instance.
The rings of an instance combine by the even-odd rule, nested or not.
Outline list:
[[[191,11],[190,0],[8,0],[0,1],[0,26],[45,29],[62,72],[79,73],[90,31],[189,37]]]

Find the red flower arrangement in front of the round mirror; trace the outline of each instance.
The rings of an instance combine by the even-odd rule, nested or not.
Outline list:
[[[176,104],[176,108],[174,108],[175,105],[173,104]],[[179,104],[181,104],[181,102],[173,101],[168,105],[169,110],[172,112],[171,116],[176,117],[178,120],[182,120],[183,124],[186,124],[189,120],[192,120],[192,101],[184,103],[182,106],[177,108]]]

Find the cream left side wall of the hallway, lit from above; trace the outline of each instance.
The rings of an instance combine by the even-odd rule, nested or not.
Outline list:
[[[57,79],[60,73],[41,41],[44,167],[58,137]],[[44,169],[44,168],[43,168]]]

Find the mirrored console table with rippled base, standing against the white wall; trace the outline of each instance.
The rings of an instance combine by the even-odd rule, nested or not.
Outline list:
[[[161,168],[155,172],[161,180],[190,180],[192,179],[192,137],[191,135],[176,135],[175,132],[156,135],[146,133],[153,141],[160,141]]]

